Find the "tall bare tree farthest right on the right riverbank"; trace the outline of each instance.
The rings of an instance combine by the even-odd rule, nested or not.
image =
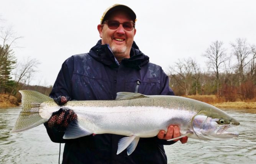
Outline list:
[[[246,43],[246,39],[238,38],[236,43],[231,43],[233,55],[238,61],[239,86],[245,81],[244,69],[249,64],[249,55],[252,53],[251,48]]]

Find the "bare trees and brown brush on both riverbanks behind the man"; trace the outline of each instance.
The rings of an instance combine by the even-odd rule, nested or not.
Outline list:
[[[0,20],[1,21],[1,20]],[[18,90],[31,89],[49,95],[52,86],[30,85],[40,64],[35,58],[18,61],[13,49],[18,48],[11,28],[0,27],[0,103],[18,105]],[[170,87],[177,96],[185,96],[207,103],[255,102],[256,46],[246,38],[212,43],[202,52],[207,69],[192,58],[179,59],[169,67]],[[40,83],[39,83],[40,84]],[[191,95],[195,95],[192,97]],[[211,96],[209,96],[211,95]],[[254,107],[253,107],[254,108]]]

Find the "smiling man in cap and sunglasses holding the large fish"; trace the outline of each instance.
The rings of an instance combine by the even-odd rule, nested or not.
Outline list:
[[[63,104],[72,100],[114,100],[117,92],[139,92],[145,95],[174,95],[169,79],[160,66],[149,62],[133,41],[136,15],[125,5],[113,5],[97,26],[101,40],[89,53],[68,58],[59,72],[50,94]],[[53,142],[66,143],[62,163],[167,163],[163,144],[180,136],[177,126],[160,131],[153,138],[140,138],[135,151],[117,153],[118,140],[123,136],[96,134],[77,139],[62,139],[63,127],[76,118],[71,111],[60,110],[45,123]],[[62,128],[57,128],[62,126]],[[187,138],[180,139],[182,143]]]

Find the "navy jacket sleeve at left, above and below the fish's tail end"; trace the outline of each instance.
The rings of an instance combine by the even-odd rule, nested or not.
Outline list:
[[[72,98],[71,78],[74,71],[74,59],[68,58],[61,67],[57,79],[53,85],[53,89],[50,93],[51,98],[58,96],[69,96]],[[63,139],[64,132],[59,132],[55,128],[48,128],[47,122],[44,123],[46,131],[51,139],[55,143],[65,143],[67,139]]]

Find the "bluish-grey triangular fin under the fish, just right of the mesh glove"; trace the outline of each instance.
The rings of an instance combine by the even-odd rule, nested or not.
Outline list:
[[[92,134],[92,132],[85,130],[84,128],[79,126],[77,120],[74,120],[67,126],[63,139],[74,139],[83,136],[88,136],[90,134]]]

